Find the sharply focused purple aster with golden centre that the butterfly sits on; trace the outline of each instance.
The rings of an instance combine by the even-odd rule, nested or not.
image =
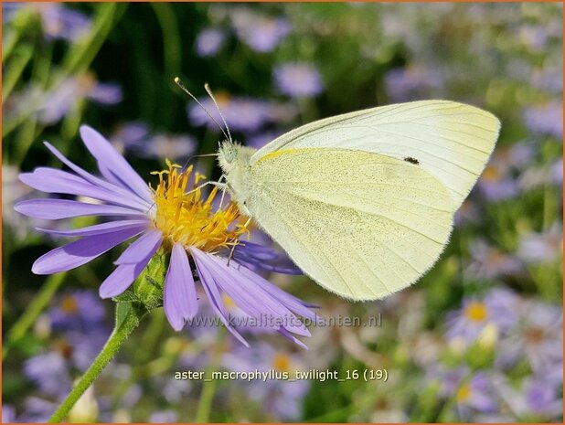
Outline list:
[[[196,271],[208,300],[223,324],[243,344],[243,337],[229,324],[222,294],[229,296],[246,314],[254,318],[268,316],[271,326],[296,344],[293,335],[310,333],[296,314],[314,319],[309,305],[242,266],[229,262],[222,253],[239,243],[247,231],[232,226],[240,212],[230,203],[225,209],[211,210],[215,189],[208,198],[200,189],[189,190],[187,182],[192,167],[179,170],[167,163],[158,173],[155,189],[123,159],[100,133],[87,126],[80,128],[82,141],[97,160],[101,177],[92,175],[70,162],[51,144],[49,151],[69,166],[72,173],[39,167],[24,173],[20,179],[28,186],[48,193],[89,197],[97,203],[71,199],[32,199],[18,203],[16,211],[29,217],[60,219],[80,216],[114,217],[112,221],[87,228],[53,231],[60,236],[81,239],[49,251],[35,261],[32,271],[52,274],[69,271],[94,260],[128,239],[137,237],[115,261],[116,269],[101,283],[102,298],[115,297],[126,291],[144,271],[157,250],[171,252],[164,282],[164,309],[169,323],[180,330],[185,320],[197,313]],[[196,175],[194,185],[202,179]],[[194,261],[195,267],[190,264]]]

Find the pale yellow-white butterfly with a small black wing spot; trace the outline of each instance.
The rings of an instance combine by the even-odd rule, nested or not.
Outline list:
[[[231,197],[325,289],[376,300],[438,260],[496,144],[494,115],[413,101],[299,127],[256,151],[221,143]]]

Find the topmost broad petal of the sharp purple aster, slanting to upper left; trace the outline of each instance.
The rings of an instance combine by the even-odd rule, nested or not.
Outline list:
[[[151,192],[144,180],[133,171],[132,166],[116,151],[112,144],[102,137],[101,133],[87,125],[82,125],[80,136],[92,156],[96,158],[99,164],[103,164],[105,168],[110,170],[123,187],[129,187],[139,197],[150,204],[153,203]]]

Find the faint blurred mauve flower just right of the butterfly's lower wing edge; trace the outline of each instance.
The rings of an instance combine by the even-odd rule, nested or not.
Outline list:
[[[515,256],[489,245],[484,239],[471,241],[469,251],[471,263],[465,270],[469,278],[492,280],[523,270],[522,262]]]

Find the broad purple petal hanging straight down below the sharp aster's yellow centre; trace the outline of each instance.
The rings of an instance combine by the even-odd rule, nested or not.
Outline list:
[[[163,308],[176,331],[180,331],[185,319],[193,318],[198,310],[197,290],[187,252],[179,243],[173,246],[169,270],[166,272]]]

